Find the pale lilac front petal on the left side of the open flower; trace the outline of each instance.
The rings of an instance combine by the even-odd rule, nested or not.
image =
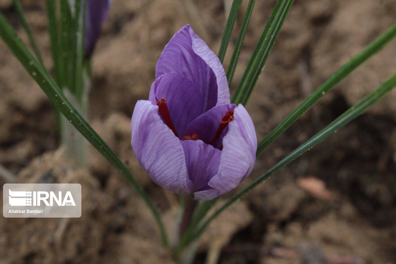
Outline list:
[[[192,182],[187,176],[183,147],[162,121],[158,106],[137,101],[131,129],[133,152],[150,178],[169,191],[189,192]]]

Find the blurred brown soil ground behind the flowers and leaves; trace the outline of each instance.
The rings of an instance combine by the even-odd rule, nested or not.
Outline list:
[[[154,197],[169,229],[175,197],[137,165],[130,117],[137,99],[148,98],[160,52],[180,27],[190,23],[218,51],[230,2],[114,0],[95,50],[90,123]],[[231,92],[275,2],[256,2]],[[51,69],[44,1],[22,4]],[[26,41],[12,1],[1,0],[0,9]],[[395,17],[394,0],[295,0],[247,104],[258,140]],[[393,41],[326,95],[259,157],[238,189],[396,73],[395,55]],[[202,238],[196,263],[216,254],[221,263],[396,263],[395,92],[227,211]],[[141,199],[97,151],[89,170],[62,158],[49,100],[3,42],[0,94],[0,164],[19,182],[83,187],[81,218],[1,217],[0,262],[173,263]],[[326,186],[319,195],[303,188],[312,179]]]

